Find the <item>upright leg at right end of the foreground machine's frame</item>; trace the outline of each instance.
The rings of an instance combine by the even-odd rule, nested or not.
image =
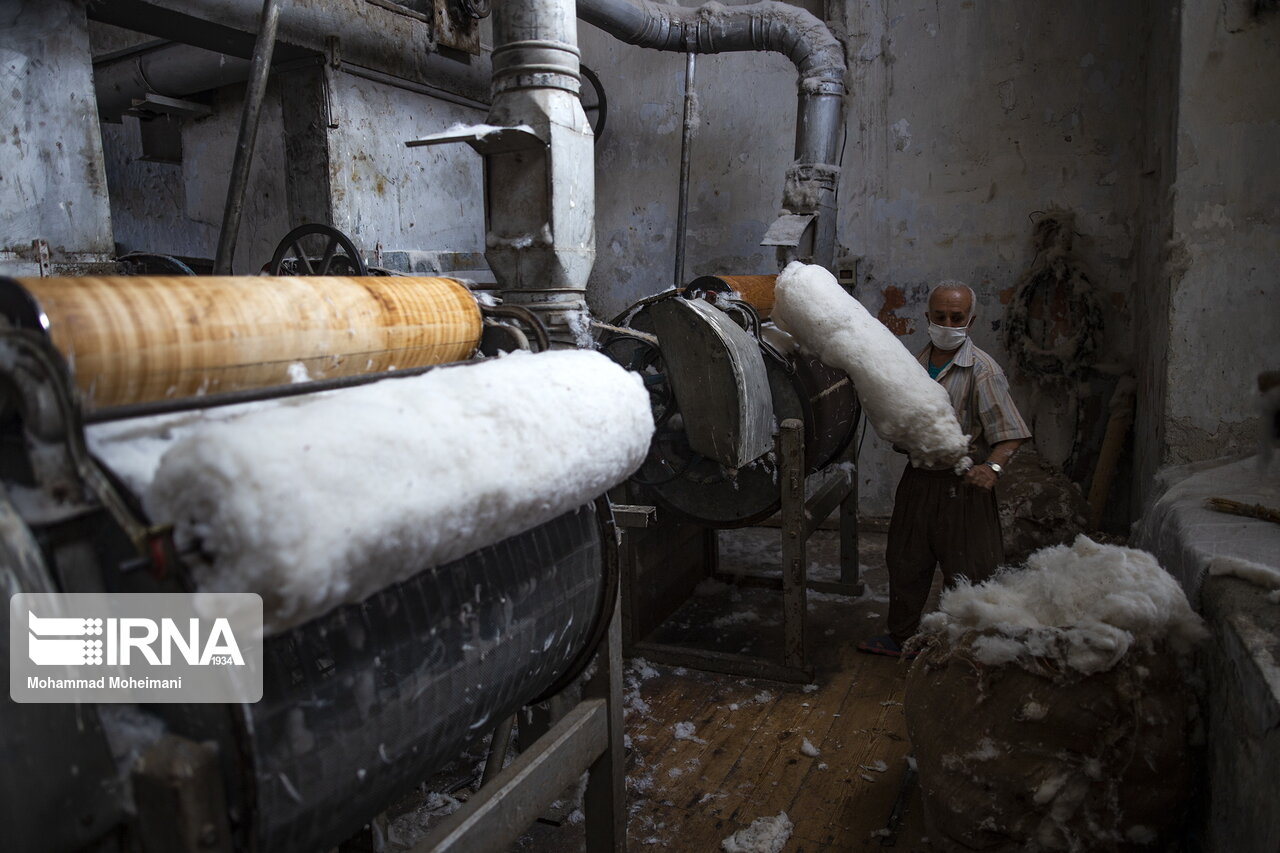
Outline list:
[[[621,597],[621,589],[618,590]],[[620,602],[621,603],[621,602]],[[626,752],[622,745],[622,619],[613,608],[609,633],[598,657],[599,669],[584,698],[605,699],[609,744],[586,780],[582,812],[586,815],[586,849],[625,853],[627,848]]]

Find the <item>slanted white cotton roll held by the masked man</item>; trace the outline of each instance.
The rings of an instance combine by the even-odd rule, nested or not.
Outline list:
[[[968,467],[969,437],[946,389],[831,273],[788,264],[774,288],[773,321],[849,374],[876,433],[906,450],[913,465]]]

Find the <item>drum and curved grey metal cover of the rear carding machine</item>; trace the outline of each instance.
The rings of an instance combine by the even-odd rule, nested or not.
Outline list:
[[[774,275],[704,275],[618,316],[604,351],[649,387],[657,433],[632,483],[709,528],[778,511],[774,434],[804,423],[806,473],[849,448],[861,406],[849,377],[765,323]]]

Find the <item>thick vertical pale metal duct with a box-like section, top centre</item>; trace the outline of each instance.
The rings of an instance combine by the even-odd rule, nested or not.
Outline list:
[[[485,259],[504,302],[536,313],[553,342],[590,346],[595,160],[573,0],[494,4],[493,41],[488,122],[504,131],[475,145],[485,158]]]

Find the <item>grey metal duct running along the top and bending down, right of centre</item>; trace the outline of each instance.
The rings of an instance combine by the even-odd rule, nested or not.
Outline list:
[[[785,214],[765,241],[778,246],[780,264],[799,259],[832,265],[845,50],[822,20],[773,1],[684,9],[648,0],[577,0],[577,14],[628,45],[700,54],[767,50],[795,63],[800,72],[796,159],[783,186]]]

